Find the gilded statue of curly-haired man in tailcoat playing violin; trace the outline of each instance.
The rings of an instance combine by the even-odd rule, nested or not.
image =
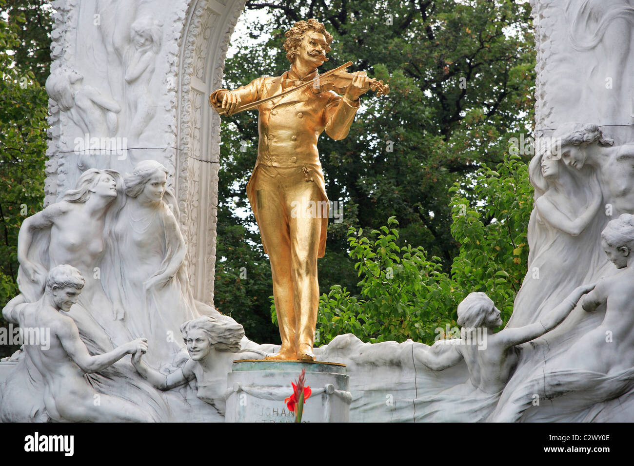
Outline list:
[[[290,70],[278,77],[259,77],[234,91],[215,91],[209,101],[217,112],[231,115],[240,106],[318,76],[332,42],[324,25],[315,19],[299,21],[285,35]],[[325,253],[328,226],[317,139],[324,130],[333,139],[345,138],[359,96],[368,89],[365,72],[357,72],[342,96],[311,84],[257,107],[259,144],[247,196],[271,262],[281,337],[280,352],[267,359],[314,359],[317,259]]]

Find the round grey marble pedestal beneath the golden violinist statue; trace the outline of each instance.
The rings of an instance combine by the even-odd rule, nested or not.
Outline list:
[[[348,422],[352,396],[345,365],[250,359],[235,361],[229,373],[225,422],[295,422],[284,399],[304,368],[313,393],[302,422]]]

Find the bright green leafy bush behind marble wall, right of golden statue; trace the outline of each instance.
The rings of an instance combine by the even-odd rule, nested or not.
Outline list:
[[[469,204],[458,183],[451,188],[451,232],[460,242],[451,273],[423,247],[399,247],[394,217],[370,235],[349,230],[361,293],[355,297],[332,285],[321,295],[321,344],[341,333],[369,342],[411,338],[433,344],[446,326],[456,326],[458,303],[477,291],[488,294],[508,320],[526,274],[526,228],[533,209],[527,165],[517,155],[507,157],[497,171],[483,164],[473,190],[481,200],[477,205]]]

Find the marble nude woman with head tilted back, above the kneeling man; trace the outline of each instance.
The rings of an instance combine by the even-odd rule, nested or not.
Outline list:
[[[114,325],[119,316],[113,315],[112,304],[101,287],[100,272],[97,273],[105,248],[107,213],[117,197],[117,179],[119,173],[112,170],[85,171],[76,189],[25,219],[18,235],[18,285],[23,299],[40,299],[49,269],[58,264],[74,264],[87,282],[80,306],[74,306],[70,315],[82,338],[96,345],[91,349],[101,351],[112,348],[104,328],[110,328],[108,333],[115,340],[129,337],[120,324]]]

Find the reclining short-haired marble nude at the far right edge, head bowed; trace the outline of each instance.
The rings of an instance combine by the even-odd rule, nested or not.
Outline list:
[[[585,394],[594,405],[618,398],[634,381],[634,216],[621,214],[610,221],[601,239],[607,259],[619,271],[598,280],[581,306],[587,312],[605,306],[602,323],[540,366],[498,408],[493,420],[519,420],[531,406],[533,394],[547,399]]]

